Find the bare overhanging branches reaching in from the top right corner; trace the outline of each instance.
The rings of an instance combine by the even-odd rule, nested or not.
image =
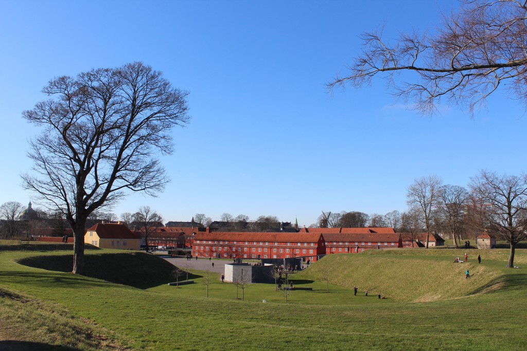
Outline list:
[[[364,33],[363,51],[350,65],[349,75],[336,77],[328,87],[362,87],[380,75],[395,96],[413,101],[423,114],[432,113],[442,98],[473,114],[500,85],[527,104],[527,3],[463,3],[458,13],[444,14],[432,34],[401,33],[390,42],[383,38],[384,28]],[[414,72],[415,79],[396,83],[402,71]]]

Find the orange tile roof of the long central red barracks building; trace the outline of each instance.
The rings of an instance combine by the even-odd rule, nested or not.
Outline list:
[[[279,242],[279,243],[317,243],[320,233],[282,233],[282,232],[211,232],[198,233],[194,240],[228,240],[240,242]]]

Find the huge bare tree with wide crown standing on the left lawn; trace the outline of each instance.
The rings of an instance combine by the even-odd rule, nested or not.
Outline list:
[[[30,141],[33,174],[22,176],[73,229],[73,273],[84,273],[86,218],[126,190],[155,196],[169,181],[155,155],[171,154],[172,127],[187,123],[186,92],[140,62],[56,77],[24,118],[43,127]]]

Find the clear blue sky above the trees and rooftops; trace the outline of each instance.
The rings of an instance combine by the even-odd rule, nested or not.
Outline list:
[[[163,157],[172,182],[130,195],[117,215],[149,205],[165,220],[275,215],[316,221],[321,210],[406,210],[406,188],[435,173],[466,185],[480,169],[523,172],[525,108],[499,91],[474,118],[456,106],[422,117],[382,80],[325,88],[385,24],[433,31],[457,1],[0,0],[0,204],[26,204],[31,168],[21,117],[55,76],[142,61],[190,92],[191,123]],[[38,204],[35,204],[38,207]]]

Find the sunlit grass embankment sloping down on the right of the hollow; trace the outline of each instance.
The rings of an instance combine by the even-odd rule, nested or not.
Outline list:
[[[360,255],[328,255],[312,265],[299,277],[325,281],[348,289],[356,285],[359,294],[378,293],[398,301],[426,302],[456,298],[497,288],[503,273],[496,269],[505,260],[501,250],[468,250],[469,261],[453,263],[454,257],[464,259],[466,250],[412,249],[371,250]],[[477,263],[477,254],[483,264]],[[525,263],[524,257],[516,262]],[[489,264],[492,263],[492,264]],[[465,279],[465,270],[471,277]]]

